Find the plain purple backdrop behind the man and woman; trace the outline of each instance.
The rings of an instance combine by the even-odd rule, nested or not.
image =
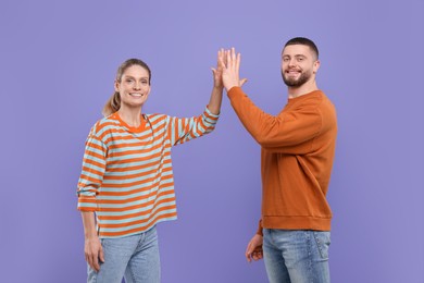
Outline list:
[[[85,282],[76,182],[119,64],[151,66],[146,112],[190,116],[208,102],[216,51],[235,46],[245,90],[276,114],[295,36],[317,44],[319,86],[338,110],[333,282],[424,282],[424,1],[2,0],[0,11],[0,282]],[[266,282],[263,261],[244,257],[259,153],[226,96],[215,132],[174,148],[164,283]]]

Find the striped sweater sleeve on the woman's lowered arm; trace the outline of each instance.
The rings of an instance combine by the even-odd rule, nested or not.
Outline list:
[[[78,210],[96,211],[96,196],[99,193],[105,170],[107,147],[90,134],[86,142],[83,169],[78,180]]]

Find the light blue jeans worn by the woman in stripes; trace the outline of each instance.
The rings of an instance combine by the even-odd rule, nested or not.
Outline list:
[[[132,236],[101,238],[104,262],[96,272],[88,264],[88,283],[159,283],[161,267],[157,229]]]

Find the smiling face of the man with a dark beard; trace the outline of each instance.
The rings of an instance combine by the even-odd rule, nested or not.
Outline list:
[[[282,54],[282,76],[288,87],[300,87],[314,79],[320,66],[316,56],[309,46],[286,46]]]

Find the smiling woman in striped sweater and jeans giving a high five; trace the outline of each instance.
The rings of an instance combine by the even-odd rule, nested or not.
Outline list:
[[[176,219],[171,147],[213,131],[222,101],[219,51],[213,89],[200,116],[144,114],[151,72],[138,59],[117,70],[105,118],[86,140],[78,181],[88,282],[160,282],[155,224]]]

